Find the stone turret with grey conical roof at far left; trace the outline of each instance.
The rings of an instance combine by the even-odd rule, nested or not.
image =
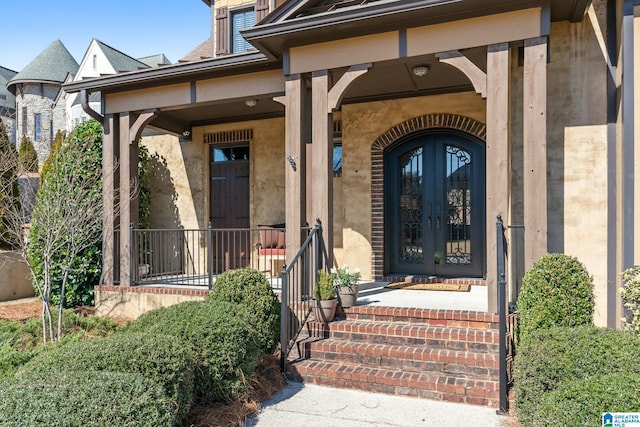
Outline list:
[[[42,165],[58,130],[66,126],[66,95],[62,84],[75,75],[78,63],[60,40],[51,43],[8,83],[16,97],[16,141],[26,135]]]

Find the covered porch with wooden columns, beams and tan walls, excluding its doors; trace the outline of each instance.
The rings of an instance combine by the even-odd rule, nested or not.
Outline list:
[[[80,91],[85,101],[92,92],[101,92],[103,112],[92,115],[105,129],[104,168],[119,170],[116,179],[106,174],[104,180],[102,285],[139,286],[141,276],[151,272],[146,270],[150,263],[134,260],[141,247],[132,233],[117,230],[127,225],[137,230],[132,192],[137,168],[132,159],[142,130],[153,128],[174,135],[157,153],[169,153],[167,169],[180,169],[184,176],[174,183],[182,203],[181,215],[174,219],[184,229],[204,233],[197,238],[200,247],[213,246],[207,243],[209,229],[235,228],[220,224],[214,215],[217,206],[233,199],[216,200],[214,189],[221,175],[212,172],[212,153],[246,146],[247,157],[240,160],[249,165],[249,215],[239,228],[251,234],[259,224],[285,223],[283,263],[298,252],[307,224],[320,219],[332,265],[358,266],[372,281],[397,274],[438,276],[438,271],[445,272],[444,279],[482,281],[486,310],[496,312],[496,216],[527,230],[526,239],[521,236],[520,243],[510,246],[520,249],[509,257],[513,274],[548,250],[548,36],[553,21],[582,19],[586,3],[368,2],[340,10],[340,19],[330,25],[325,20],[335,14],[284,7],[243,32],[258,52],[65,86],[70,92]],[[363,18],[367,19],[362,25],[350,24]],[[514,116],[521,126],[514,125]],[[405,223],[394,222],[402,215],[390,207],[389,196],[395,190],[387,186],[389,153],[414,135],[442,131],[473,139],[484,159],[474,175],[479,188],[474,193],[482,197],[472,215],[458,222],[452,219],[460,210],[471,209],[464,205],[456,214],[441,207],[418,219],[423,234],[433,227],[467,229],[473,221],[473,253],[457,257],[438,252],[453,252],[453,246],[467,245],[471,238],[449,238],[434,231],[433,241],[441,246],[435,257],[427,254],[425,248],[433,246],[425,246],[423,234],[406,232]],[[336,146],[341,149],[340,175],[334,170]],[[526,171],[521,182],[511,177],[514,159]],[[458,187],[454,190],[466,194]],[[131,199],[123,197],[132,193]],[[442,203],[436,200],[434,209],[438,203],[451,206],[452,194],[453,190],[442,196]],[[422,210],[412,212],[418,211]],[[158,228],[170,225],[174,224],[160,223]],[[251,238],[246,243],[243,256],[248,265],[255,265],[253,257],[258,255],[248,255],[249,250],[255,252],[255,244]],[[404,265],[392,260],[399,249],[429,260],[434,270],[416,274],[396,269]],[[210,265],[210,257],[215,257],[231,266],[229,254],[203,252],[197,258],[202,265]],[[478,267],[466,274],[464,264],[471,257]],[[456,268],[440,269],[449,264]],[[273,259],[271,265],[272,274]],[[211,273],[206,280],[210,286]]]

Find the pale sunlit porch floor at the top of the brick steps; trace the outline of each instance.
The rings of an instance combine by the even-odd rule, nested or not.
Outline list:
[[[280,292],[280,279],[270,278],[274,292]],[[176,281],[179,283],[179,280]],[[486,312],[488,308],[487,287],[472,285],[468,292],[422,291],[387,289],[389,282],[361,282],[357,305],[386,307],[432,308]],[[214,285],[215,286],[215,285]],[[165,282],[140,285],[144,288],[206,289],[206,278],[202,285],[182,285]]]

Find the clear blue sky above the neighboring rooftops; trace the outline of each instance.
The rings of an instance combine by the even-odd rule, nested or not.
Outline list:
[[[202,0],[0,0],[0,22],[0,66],[15,71],[55,39],[78,63],[93,37],[134,58],[177,62],[211,33]]]

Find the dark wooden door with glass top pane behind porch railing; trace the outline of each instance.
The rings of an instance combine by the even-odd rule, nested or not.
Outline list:
[[[212,148],[210,218],[213,267],[246,267],[251,257],[249,224],[249,147]]]

